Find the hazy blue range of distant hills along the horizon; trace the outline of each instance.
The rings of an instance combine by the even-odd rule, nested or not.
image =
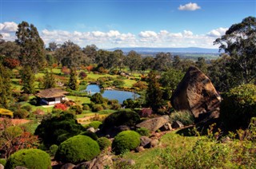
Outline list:
[[[113,48],[106,49],[109,51],[114,51],[116,49],[121,49],[124,53],[129,53],[131,50],[137,53],[160,53],[160,52],[170,52],[170,53],[218,53],[218,49],[206,49],[206,48]]]

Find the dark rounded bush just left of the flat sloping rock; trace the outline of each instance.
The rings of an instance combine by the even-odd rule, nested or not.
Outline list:
[[[128,125],[134,126],[140,120],[137,112],[131,110],[120,110],[107,116],[103,122],[102,129],[107,129],[113,126]]]

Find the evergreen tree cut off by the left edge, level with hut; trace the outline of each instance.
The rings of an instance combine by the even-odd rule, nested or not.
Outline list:
[[[8,108],[12,99],[10,71],[0,64],[0,108]]]

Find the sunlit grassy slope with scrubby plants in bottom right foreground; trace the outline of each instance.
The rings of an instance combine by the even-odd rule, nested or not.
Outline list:
[[[206,136],[181,136],[169,132],[156,148],[134,153],[135,165],[115,163],[114,168],[256,168],[256,144],[248,140],[221,142]]]

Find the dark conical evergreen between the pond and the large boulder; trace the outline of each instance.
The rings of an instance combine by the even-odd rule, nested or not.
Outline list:
[[[152,108],[154,112],[158,112],[158,108],[162,105],[162,90],[158,82],[157,73],[151,71],[148,75],[148,88],[146,90],[146,104]]]

